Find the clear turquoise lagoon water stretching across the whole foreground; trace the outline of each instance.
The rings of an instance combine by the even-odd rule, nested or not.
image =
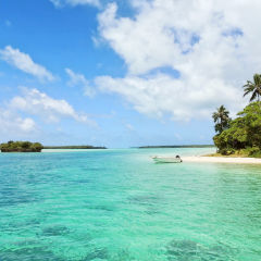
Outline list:
[[[0,260],[261,260],[261,167],[126,149],[0,154]]]

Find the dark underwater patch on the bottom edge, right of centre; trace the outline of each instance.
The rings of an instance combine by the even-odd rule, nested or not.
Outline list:
[[[204,247],[191,240],[172,240],[166,246],[169,261],[229,261],[235,253],[228,247]]]

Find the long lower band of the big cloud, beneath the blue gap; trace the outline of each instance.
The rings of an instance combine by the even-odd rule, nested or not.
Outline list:
[[[152,77],[126,76],[112,78],[98,77],[97,86],[102,91],[117,92],[144,114],[161,117],[171,114],[173,120],[209,117],[211,110],[219,104],[231,104],[240,99],[237,90],[219,79],[206,85],[204,77],[176,79],[165,74]],[[186,86],[187,85],[187,86]]]

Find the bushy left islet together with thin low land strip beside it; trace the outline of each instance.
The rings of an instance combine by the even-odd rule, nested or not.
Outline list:
[[[13,141],[0,145],[1,152],[41,152],[42,149],[107,149],[105,147],[86,146],[42,146],[40,142]]]

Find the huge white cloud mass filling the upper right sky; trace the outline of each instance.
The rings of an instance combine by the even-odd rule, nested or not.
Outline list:
[[[116,3],[98,17],[100,36],[128,67],[123,78],[98,77],[99,88],[141,113],[177,120],[210,117],[222,103],[233,111],[244,105],[241,86],[261,69],[260,1],[134,0],[133,7],[133,18],[119,16]]]

